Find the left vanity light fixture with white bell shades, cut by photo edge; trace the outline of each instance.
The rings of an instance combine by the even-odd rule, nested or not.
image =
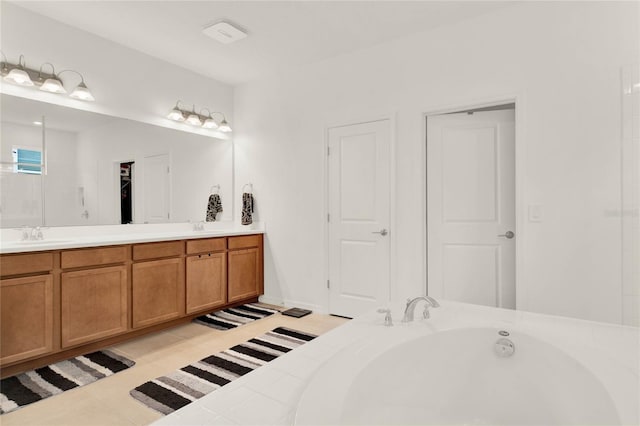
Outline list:
[[[20,55],[17,64],[9,63],[4,53],[2,53],[2,57],[4,61],[0,64],[0,72],[4,80],[9,83],[20,86],[38,86],[44,92],[66,94],[67,89],[65,89],[60,75],[71,72],[80,76],[80,83],[71,91],[69,97],[83,101],[95,100],[84,82],[84,77],[78,71],[63,70],[56,73],[53,64],[50,62],[45,62],[40,66],[39,70],[35,70],[27,68],[24,55]],[[51,73],[43,71],[45,66],[51,67]]]

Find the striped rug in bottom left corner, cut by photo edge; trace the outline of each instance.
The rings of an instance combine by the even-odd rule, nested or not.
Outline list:
[[[0,380],[0,414],[126,370],[135,362],[98,351]]]

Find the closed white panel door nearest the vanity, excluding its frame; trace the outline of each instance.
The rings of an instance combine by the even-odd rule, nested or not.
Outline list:
[[[389,120],[329,129],[329,311],[389,300]]]

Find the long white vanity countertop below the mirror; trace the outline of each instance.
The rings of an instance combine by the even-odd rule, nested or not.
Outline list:
[[[0,253],[22,253],[63,250],[82,247],[148,243],[197,238],[230,237],[263,234],[264,224],[243,226],[236,223],[206,223],[202,231],[194,231],[191,223],[145,225],[62,226],[43,228],[44,239],[21,241],[22,231],[2,229]]]

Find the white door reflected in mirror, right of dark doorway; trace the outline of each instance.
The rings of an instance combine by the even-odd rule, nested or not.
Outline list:
[[[144,222],[169,222],[171,169],[169,154],[144,157]]]

